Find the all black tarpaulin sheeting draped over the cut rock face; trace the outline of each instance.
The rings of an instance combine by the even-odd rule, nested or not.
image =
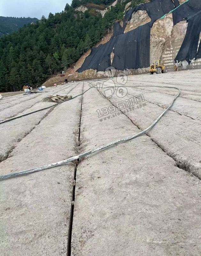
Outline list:
[[[197,52],[196,45],[198,44],[201,25],[196,26],[196,23],[201,24],[199,19],[201,15],[201,1],[189,0],[182,5],[179,4],[178,0],[152,0],[149,3],[140,4],[132,8],[124,16],[123,26],[118,22],[115,24],[114,33],[110,41],[92,49],[91,54],[77,71],[82,72],[90,68],[104,71],[110,66],[117,70],[148,67],[150,65],[151,27],[156,20],[169,12],[172,12],[174,25],[182,20],[189,19],[187,35],[175,60],[199,58],[201,47],[199,47]],[[139,10],[146,11],[151,18],[151,22],[124,33],[133,13]],[[193,18],[195,15],[197,17]],[[172,28],[172,26],[170,27]]]

